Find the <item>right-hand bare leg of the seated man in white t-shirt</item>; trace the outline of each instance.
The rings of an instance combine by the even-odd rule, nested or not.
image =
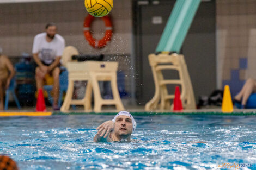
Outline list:
[[[58,107],[58,97],[59,97],[59,67],[52,70],[53,76],[53,108]]]

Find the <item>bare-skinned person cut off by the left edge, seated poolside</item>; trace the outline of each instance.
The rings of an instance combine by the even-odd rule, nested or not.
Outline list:
[[[0,110],[4,108],[4,91],[8,89],[14,73],[13,65],[8,57],[2,54],[0,47]]]

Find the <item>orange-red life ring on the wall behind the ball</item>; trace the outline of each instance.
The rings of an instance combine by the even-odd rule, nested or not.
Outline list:
[[[107,42],[111,40],[113,34],[112,23],[109,16],[101,17],[102,20],[105,22],[105,36],[101,40],[95,40],[92,33],[90,32],[90,24],[93,22],[94,18],[94,16],[88,14],[88,16],[84,19],[83,34],[91,46],[93,46],[94,48],[102,48],[105,47],[107,45]]]

